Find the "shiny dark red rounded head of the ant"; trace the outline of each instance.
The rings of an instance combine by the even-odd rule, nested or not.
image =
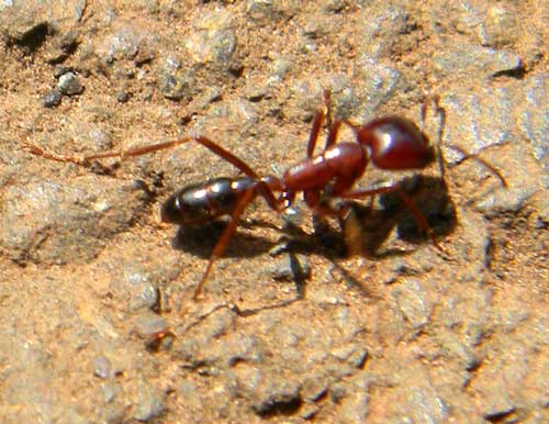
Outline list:
[[[357,141],[370,150],[376,167],[404,170],[425,168],[435,159],[433,146],[412,121],[380,118],[355,127]]]

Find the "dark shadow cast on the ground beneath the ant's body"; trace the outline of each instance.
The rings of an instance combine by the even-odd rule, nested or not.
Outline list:
[[[444,180],[435,177],[415,175],[405,177],[400,186],[412,199],[421,214],[427,220],[436,238],[451,234],[457,225],[456,208],[451,201]],[[277,246],[280,253],[291,252],[293,254],[318,254],[328,259],[343,259],[349,256],[349,250],[365,257],[386,257],[408,255],[411,252],[400,248],[383,248],[381,246],[395,228],[399,238],[415,245],[430,243],[425,232],[418,230],[412,212],[402,202],[397,192],[380,194],[377,198],[378,208],[372,208],[372,202],[347,202],[350,204],[354,220],[350,225],[358,223],[360,252],[356,252],[346,239],[346,226],[348,222],[339,223],[339,228],[327,224],[323,219],[318,220],[312,234],[305,233],[299,226],[284,224],[282,227],[264,221],[242,221],[238,227],[251,228],[262,226],[281,232],[281,241],[272,242],[261,236],[248,235],[237,231],[232,236],[224,257],[250,258],[267,252],[272,253]],[[172,247],[190,253],[201,258],[209,258],[217,244],[226,220],[217,220],[200,225],[179,226],[172,239]]]

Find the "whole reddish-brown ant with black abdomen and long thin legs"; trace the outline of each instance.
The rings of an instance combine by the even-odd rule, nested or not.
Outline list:
[[[354,124],[346,120],[334,121],[329,109],[328,90],[324,91],[323,100],[324,108],[318,110],[313,119],[305,159],[291,166],[280,178],[258,175],[244,160],[205,136],[189,136],[130,150],[108,152],[83,158],[54,155],[32,144],[25,144],[25,147],[32,154],[47,159],[90,165],[97,159],[119,157],[120,160],[124,160],[128,157],[195,142],[243,172],[245,175],[243,177],[215,178],[187,186],[170,196],[160,208],[160,220],[163,222],[179,225],[209,222],[223,215],[231,216],[210,256],[204,274],[194,289],[193,300],[197,300],[202,292],[215,260],[225,252],[240,215],[258,196],[262,197],[273,211],[282,212],[290,208],[296,194],[302,192],[305,203],[314,215],[335,216],[345,222],[346,215],[350,211],[350,205],[345,200],[397,192],[419,227],[427,233],[433,244],[444,252],[437,243],[427,220],[399,183],[370,189],[352,188],[355,182],[362,177],[370,161],[380,169],[406,170],[423,169],[435,160],[437,156],[435,147],[429,144],[428,137],[424,133],[427,103],[422,108],[422,129],[419,129],[414,122],[396,115],[374,119],[366,124]],[[438,148],[440,148],[446,113],[439,107],[438,99],[435,99],[434,104],[436,112],[440,116],[438,132]],[[322,153],[314,155],[324,123],[327,126],[326,144]],[[356,138],[355,143],[343,142],[336,144],[343,125],[351,130]],[[438,157],[441,160],[440,152],[438,152]],[[469,157],[473,157],[473,155],[466,158]],[[479,160],[504,181],[503,177],[490,164],[485,164],[482,159]],[[343,199],[343,205],[332,205],[329,200],[333,198]]]

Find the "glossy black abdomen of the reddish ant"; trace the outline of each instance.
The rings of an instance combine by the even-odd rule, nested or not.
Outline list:
[[[248,177],[215,178],[187,186],[160,208],[160,220],[171,224],[198,224],[233,213],[242,196],[255,185]]]

